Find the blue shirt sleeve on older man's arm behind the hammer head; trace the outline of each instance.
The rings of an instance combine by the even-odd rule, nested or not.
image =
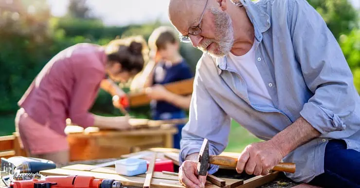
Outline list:
[[[209,154],[220,154],[228,144],[230,117],[216,104],[206,90],[203,78],[195,75],[190,103],[189,121],[182,129],[180,141],[180,165],[186,156],[198,153],[204,138],[209,140]],[[208,172],[216,172],[218,166],[211,165]]]

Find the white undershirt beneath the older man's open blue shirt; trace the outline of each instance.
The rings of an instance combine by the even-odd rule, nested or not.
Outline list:
[[[250,102],[252,104],[273,106],[270,94],[255,63],[254,45],[243,56],[235,56],[232,53],[229,53],[227,56],[227,66],[244,78],[248,86]]]

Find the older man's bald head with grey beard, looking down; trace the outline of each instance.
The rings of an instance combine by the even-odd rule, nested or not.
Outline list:
[[[234,42],[232,20],[226,13],[228,3],[230,0],[170,0],[169,19],[194,47],[212,56],[224,56]],[[200,33],[189,34],[189,28],[199,24],[203,11]]]

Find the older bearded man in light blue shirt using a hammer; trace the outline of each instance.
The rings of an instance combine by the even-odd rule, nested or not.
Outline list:
[[[239,173],[265,175],[283,160],[296,163],[286,173],[296,182],[360,186],[360,97],[306,0],[171,0],[169,17],[181,41],[204,52],[182,131],[182,184],[204,185],[194,162],[202,141],[220,154],[233,118],[265,140],[241,153]]]

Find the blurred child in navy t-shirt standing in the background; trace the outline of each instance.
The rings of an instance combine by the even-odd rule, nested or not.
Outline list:
[[[185,118],[190,106],[191,95],[183,96],[167,91],[162,85],[193,77],[193,73],[185,59],[179,53],[179,41],[170,27],[162,26],[151,34],[148,45],[154,61],[144,68],[143,87],[147,95],[153,99],[150,107],[155,120]],[[134,82],[134,84],[139,84]],[[174,136],[174,148],[180,149],[181,129]]]

